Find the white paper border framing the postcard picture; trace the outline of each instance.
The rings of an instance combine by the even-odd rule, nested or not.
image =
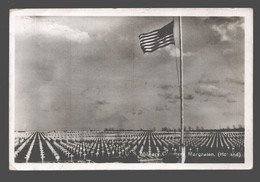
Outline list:
[[[16,16],[243,16],[245,17],[245,162],[243,164],[165,163],[15,163],[15,17]],[[12,9],[9,34],[10,170],[233,170],[253,168],[253,10],[250,8]]]

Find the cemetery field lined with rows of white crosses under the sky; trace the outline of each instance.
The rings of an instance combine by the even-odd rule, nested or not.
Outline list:
[[[244,132],[185,132],[185,163],[243,163]],[[15,132],[15,162],[177,163],[172,131]]]

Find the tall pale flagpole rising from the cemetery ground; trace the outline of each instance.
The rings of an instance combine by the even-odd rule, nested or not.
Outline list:
[[[185,145],[184,145],[184,99],[183,99],[183,45],[182,45],[182,18],[179,17],[179,41],[180,41],[180,122],[181,122],[181,141],[180,153],[181,163],[185,162]]]

